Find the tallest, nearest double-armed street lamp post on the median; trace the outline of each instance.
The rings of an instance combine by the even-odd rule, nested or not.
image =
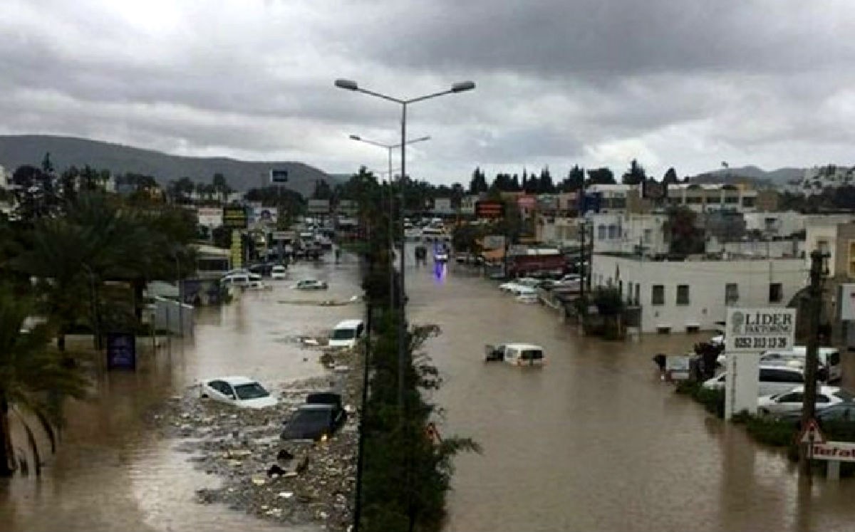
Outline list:
[[[459,83],[455,83],[451,86],[450,89],[446,89],[445,91],[433,92],[433,94],[427,94],[425,96],[420,96],[418,98],[410,98],[410,99],[402,99],[402,98],[392,98],[391,96],[387,96],[386,94],[381,94],[380,92],[369,91],[367,89],[363,89],[362,87],[357,85],[357,82],[354,80],[335,80],[335,86],[340,89],[346,89],[348,91],[354,92],[362,92],[363,94],[368,94],[369,96],[374,96],[375,98],[381,98],[387,100],[389,102],[398,103],[401,106],[401,179],[400,179],[400,216],[398,220],[398,231],[401,236],[401,256],[400,256],[400,265],[399,269],[401,270],[401,289],[399,294],[400,301],[400,311],[401,316],[398,323],[398,407],[401,412],[401,416],[403,419],[404,414],[404,368],[406,367],[407,354],[406,354],[406,333],[407,326],[404,320],[404,251],[406,246],[405,238],[404,238],[404,186],[407,182],[407,161],[406,161],[406,147],[407,147],[407,106],[410,103],[422,102],[423,100],[427,100],[430,98],[437,98],[439,96],[445,96],[445,94],[453,94],[455,92],[466,92],[475,88],[475,83],[472,81],[461,81]]]

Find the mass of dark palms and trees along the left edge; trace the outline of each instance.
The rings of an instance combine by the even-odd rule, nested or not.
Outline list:
[[[192,213],[104,192],[106,178],[89,167],[56,174],[49,157],[15,171],[15,209],[0,214],[0,476],[27,467],[21,446],[38,473],[35,431],[54,451],[63,402],[85,398],[97,362],[66,336],[91,333],[100,348],[109,332],[140,332],[146,283],[195,270]],[[26,442],[12,440],[13,418]]]

